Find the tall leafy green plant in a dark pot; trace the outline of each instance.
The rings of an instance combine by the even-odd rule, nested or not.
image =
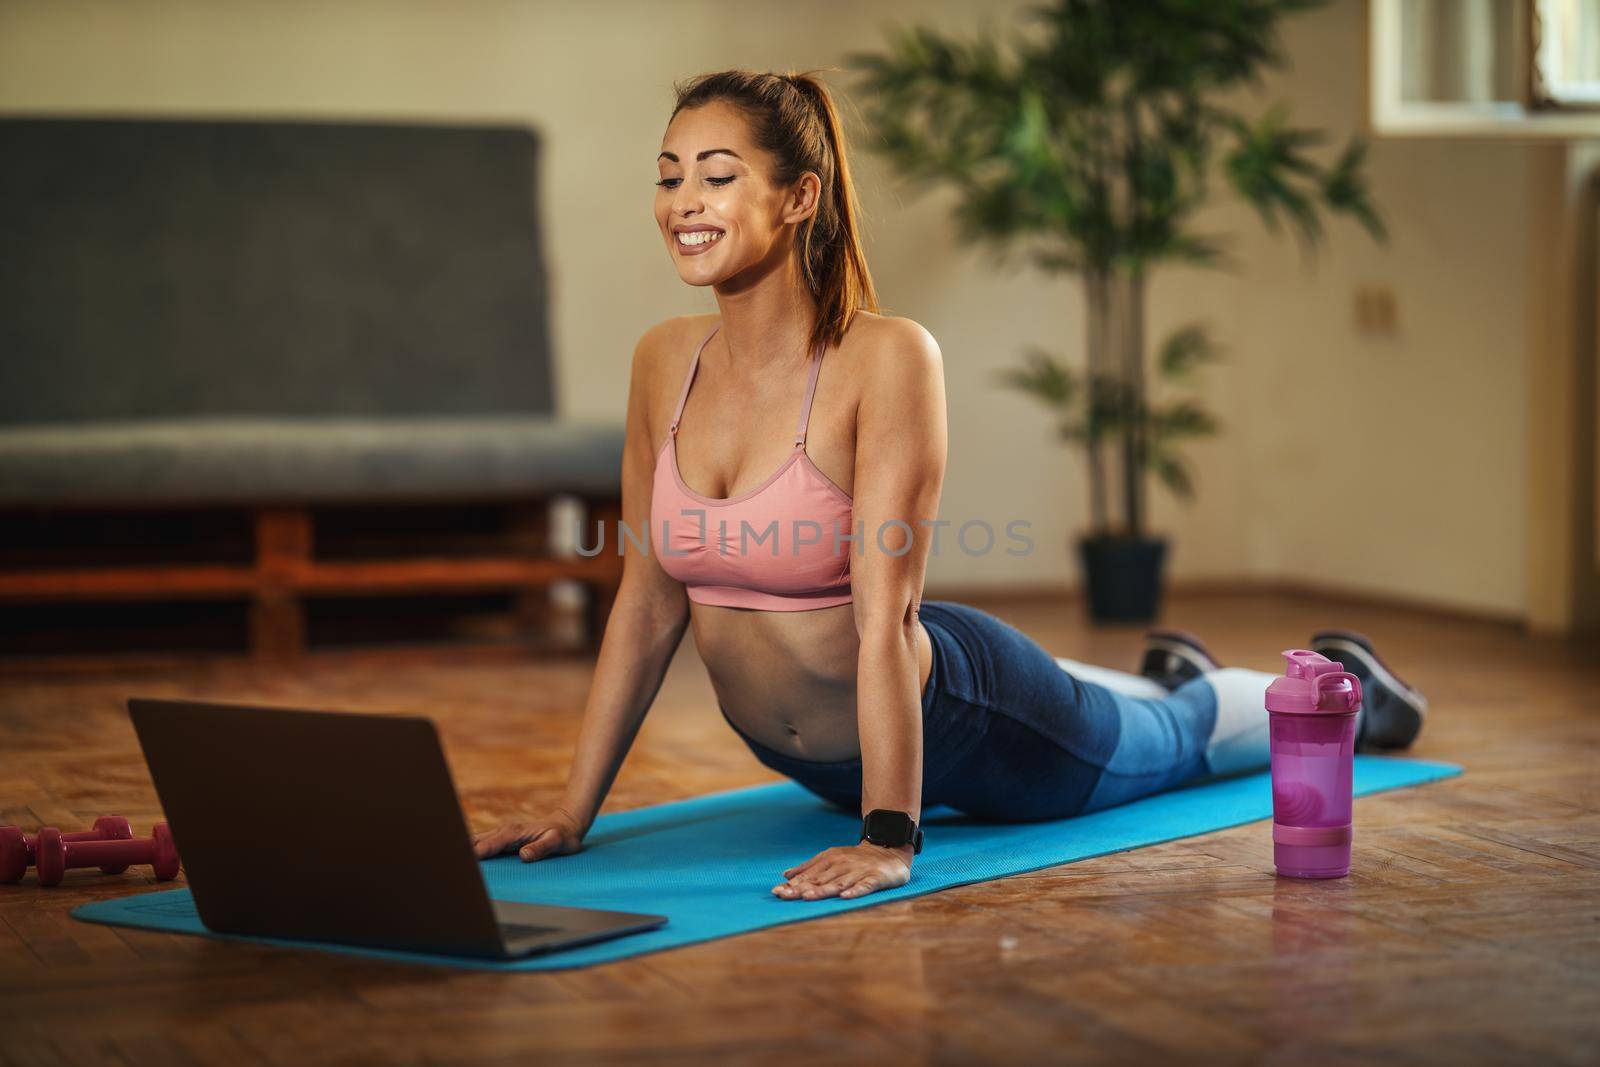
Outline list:
[[[1222,242],[1195,227],[1214,179],[1306,253],[1330,213],[1384,240],[1360,138],[1318,163],[1307,149],[1323,134],[1282,104],[1246,117],[1224,101],[1285,64],[1278,21],[1323,2],[1056,0],[1027,10],[1037,32],[1008,50],[989,29],[955,40],[910,27],[890,30],[883,53],[848,56],[872,147],[917,186],[957,190],[963,240],[1083,285],[1086,365],[1034,347],[998,381],[1042,400],[1085,450],[1078,550],[1096,621],[1155,617],[1166,542],[1149,531],[1147,475],[1192,496],[1181,445],[1216,430],[1194,398],[1149,392],[1150,362],[1181,384],[1214,358],[1210,333],[1182,326],[1152,354],[1144,307],[1157,266],[1226,266]]]

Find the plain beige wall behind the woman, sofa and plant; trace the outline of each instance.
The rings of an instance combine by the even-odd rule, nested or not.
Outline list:
[[[638,334],[714,309],[677,280],[651,221],[672,82],[723,66],[842,64],[891,19],[955,30],[1005,24],[1021,6],[0,0],[0,109],[531,123],[547,146],[562,406],[619,414]],[[1339,136],[1362,125],[1363,26],[1358,0],[1291,24],[1296,69],[1272,86],[1298,118]],[[1027,344],[1080,354],[1078,294],[995,272],[957,245],[947,197],[912,200],[861,150],[856,166],[880,294],[946,354],[944,517],[1027,518],[1037,541],[1026,558],[944,552],[930,585],[1072,581],[1078,459],[989,378]],[[1392,246],[1339,224],[1315,264],[1238,208],[1213,211],[1237,232],[1243,267],[1160,277],[1152,299],[1155,336],[1206,318],[1230,347],[1208,387],[1227,435],[1194,453],[1198,502],[1154,493],[1178,577],[1301,577],[1525,611],[1526,166],[1517,144],[1381,142],[1373,176]],[[1397,293],[1397,336],[1354,330],[1363,285]]]

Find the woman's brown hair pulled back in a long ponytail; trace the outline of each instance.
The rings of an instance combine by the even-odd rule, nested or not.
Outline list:
[[[838,344],[856,310],[878,310],[856,221],[856,189],[845,162],[845,133],[834,96],[811,72],[720,70],[674,86],[683,109],[726,101],[750,120],[755,144],[778,160],[773,181],[790,186],[806,171],[821,179],[821,200],[797,238],[800,267],[818,304],[811,334]]]

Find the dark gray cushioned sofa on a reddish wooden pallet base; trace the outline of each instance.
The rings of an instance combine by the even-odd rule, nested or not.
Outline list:
[[[318,502],[618,514],[621,421],[555,411],[530,130],[26,117],[0,158],[0,522],[250,507],[258,558],[214,595],[245,587],[256,653],[285,657],[312,590],[462,584],[437,560],[336,577]],[[597,630],[618,561],[538,541],[469,584],[578,579]],[[170,585],[144,579],[0,561],[0,608]]]

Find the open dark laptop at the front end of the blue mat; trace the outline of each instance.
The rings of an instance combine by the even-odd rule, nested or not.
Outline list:
[[[430,718],[142,697],[128,715],[218,933],[514,960],[667,921],[490,899]]]

